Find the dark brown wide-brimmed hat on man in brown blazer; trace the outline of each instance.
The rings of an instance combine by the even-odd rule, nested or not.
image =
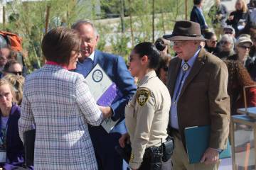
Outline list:
[[[201,34],[199,23],[177,21],[171,35],[164,35],[166,40],[206,40]]]

